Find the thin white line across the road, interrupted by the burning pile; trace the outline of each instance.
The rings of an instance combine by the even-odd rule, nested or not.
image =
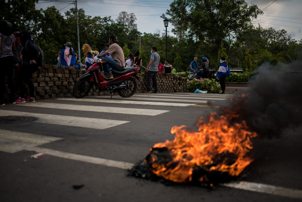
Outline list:
[[[123,162],[123,161],[114,161],[114,160],[108,160],[108,159],[104,159],[104,158],[89,157],[89,156],[72,154],[72,153],[67,153],[67,152],[63,152],[63,151],[56,151],[56,150],[40,148],[40,147],[33,147],[33,148],[29,148],[27,150],[36,151],[38,153],[43,153],[43,154],[56,156],[56,157],[60,157],[60,158],[72,159],[75,161],[82,161],[82,162],[87,162],[87,163],[109,166],[109,167],[113,167],[113,168],[131,169],[134,166],[134,164],[132,164],[132,163],[127,163],[127,162]],[[284,188],[284,187],[276,187],[276,186],[267,185],[267,184],[239,181],[239,182],[232,182],[232,183],[224,183],[224,184],[220,184],[220,185],[225,186],[225,187],[232,187],[232,188],[236,188],[236,189],[247,190],[247,191],[261,192],[261,193],[265,193],[265,194],[272,194],[272,195],[277,195],[277,196],[302,199],[301,190],[288,189],[288,188]]]

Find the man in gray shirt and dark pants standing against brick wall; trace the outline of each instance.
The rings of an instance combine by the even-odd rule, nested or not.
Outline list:
[[[146,68],[146,71],[148,71],[147,75],[147,90],[144,91],[144,93],[152,93],[151,91],[151,80],[152,80],[152,86],[154,88],[154,93],[158,93],[157,88],[157,72],[158,72],[158,64],[159,64],[159,54],[156,52],[157,48],[154,46],[151,49],[151,57],[150,62]]]

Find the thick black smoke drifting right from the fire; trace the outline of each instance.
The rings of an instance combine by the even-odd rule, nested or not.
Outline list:
[[[272,67],[264,64],[256,78],[249,83],[250,90],[242,98],[233,99],[231,106],[220,114],[234,111],[240,116],[233,121],[245,120],[249,129],[260,136],[278,137],[288,127],[302,120],[302,68],[300,63]]]

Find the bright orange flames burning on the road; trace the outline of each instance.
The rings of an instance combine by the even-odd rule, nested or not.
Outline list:
[[[250,139],[257,136],[247,131],[246,122],[230,125],[230,119],[236,114],[227,116],[210,114],[208,122],[198,120],[198,132],[184,129],[185,125],[174,126],[171,133],[175,134],[172,141],[157,143],[153,148],[167,148],[172,161],[162,163],[153,157],[152,172],[159,177],[174,182],[190,182],[194,168],[205,171],[219,171],[230,176],[238,176],[253,160],[246,154],[252,149]],[[153,150],[151,148],[151,151]],[[200,177],[198,181],[204,181]]]

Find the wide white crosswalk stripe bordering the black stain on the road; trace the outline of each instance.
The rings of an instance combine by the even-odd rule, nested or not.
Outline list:
[[[75,116],[60,116],[51,114],[38,114],[29,112],[16,112],[8,110],[0,110],[1,116],[32,116],[38,118],[32,122],[38,123],[49,123],[57,125],[68,125],[76,126],[82,128],[92,128],[92,129],[107,129],[120,124],[128,123],[130,121],[119,121],[119,120],[108,120],[108,119],[95,119],[95,118],[84,118]],[[82,124],[79,125],[79,119],[81,119]]]

